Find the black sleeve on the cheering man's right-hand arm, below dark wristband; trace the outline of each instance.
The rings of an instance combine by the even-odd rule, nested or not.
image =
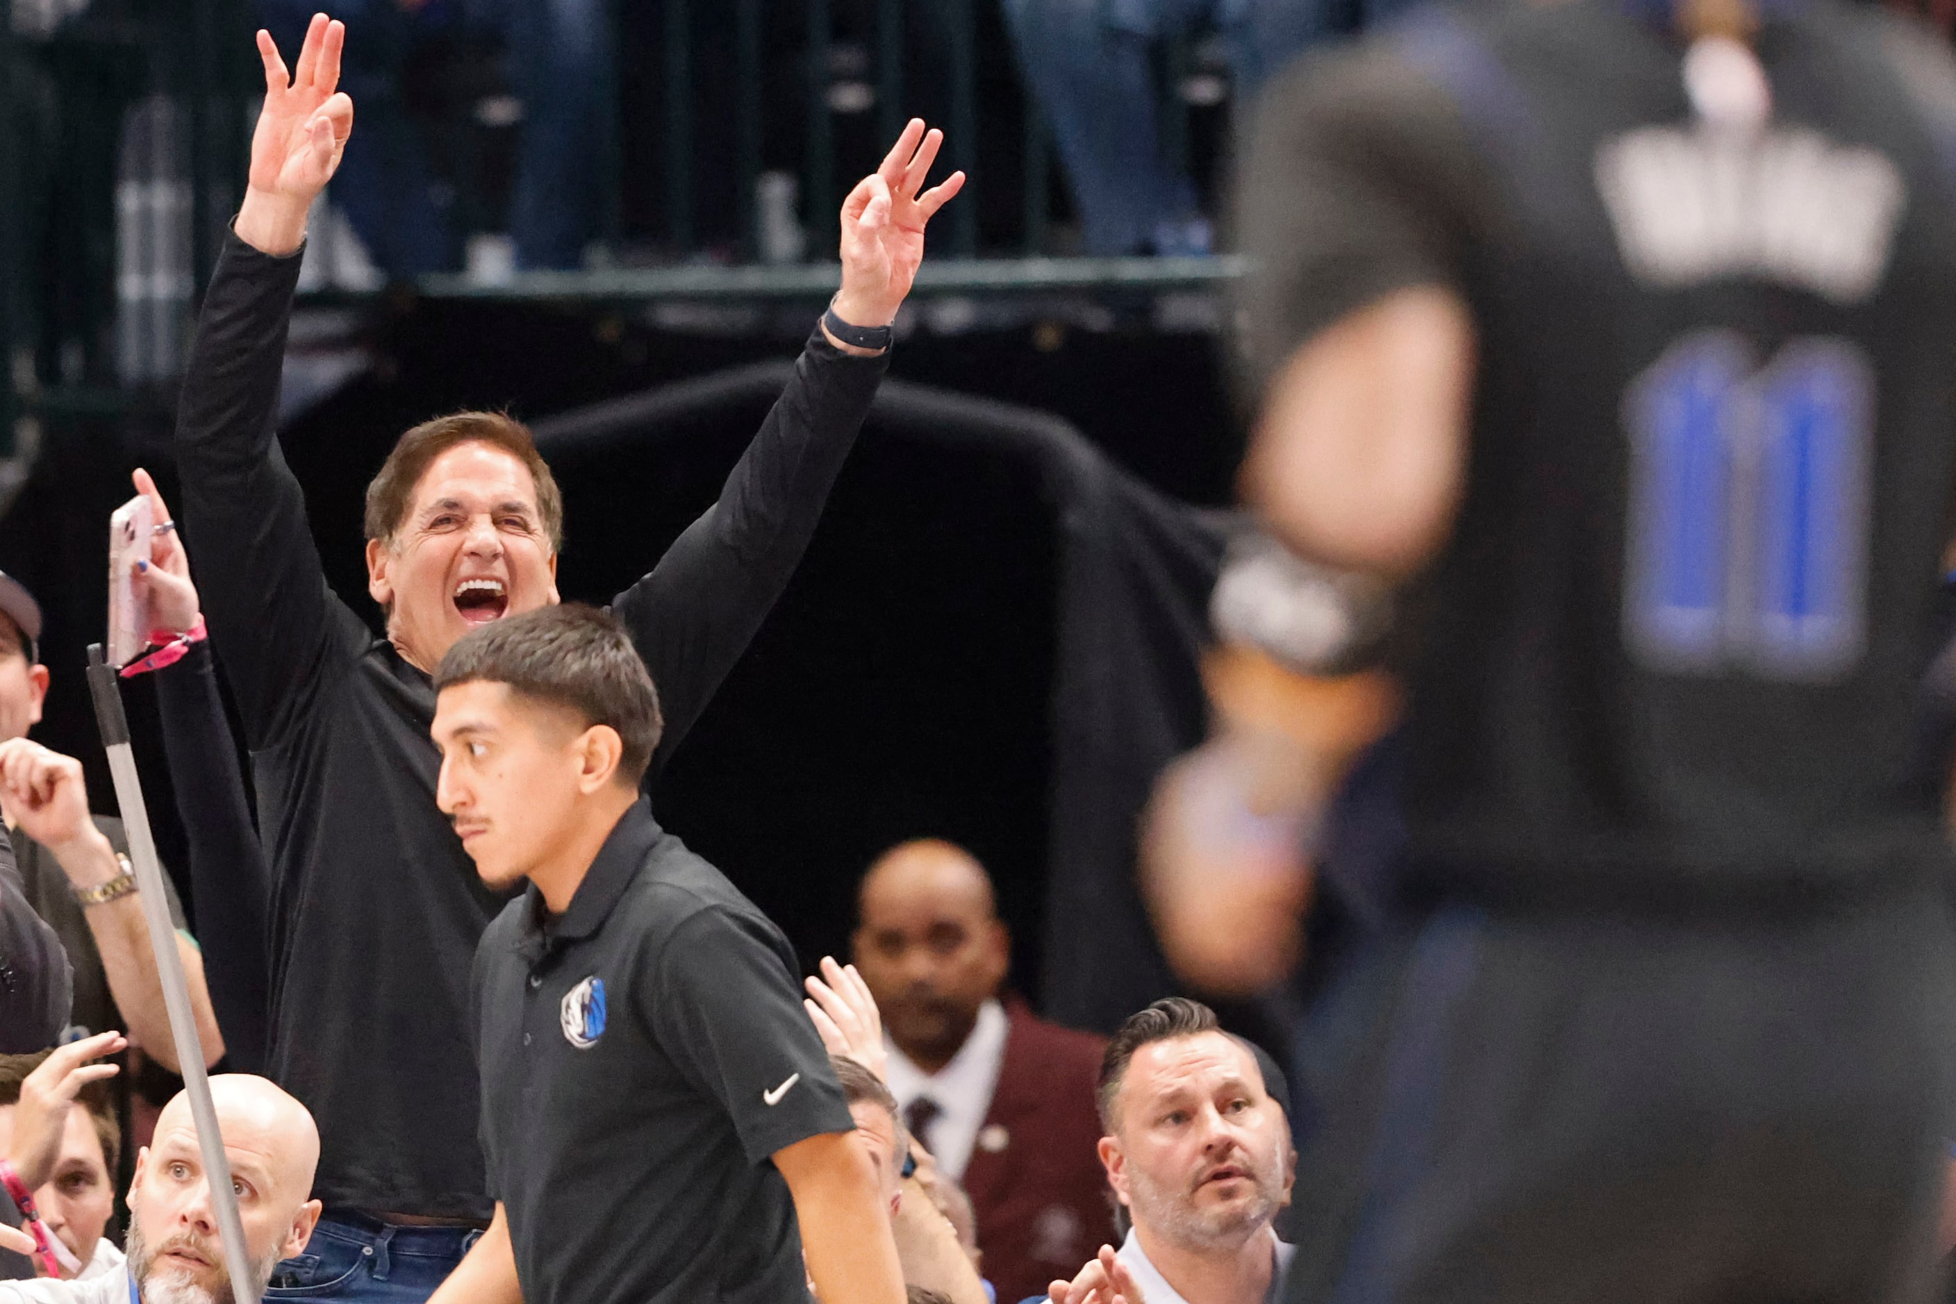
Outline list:
[[[665,716],[647,782],[788,587],[888,360],[843,354],[818,326],[720,500],[614,600]]]

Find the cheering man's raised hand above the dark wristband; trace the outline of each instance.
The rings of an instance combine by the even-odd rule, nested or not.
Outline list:
[[[943,131],[911,117],[882,164],[843,199],[843,287],[833,307],[851,326],[896,321],[923,264],[923,227],[964,188],[962,172],[923,188],[943,143]]]

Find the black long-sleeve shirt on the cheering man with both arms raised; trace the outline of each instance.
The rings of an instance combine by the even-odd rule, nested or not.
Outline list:
[[[268,1067],[319,1120],[327,1204],[485,1218],[467,985],[503,901],[434,805],[432,684],[327,588],[274,442],[297,276],[297,256],[227,240],[178,418],[186,538],[272,866]],[[884,366],[818,330],[720,500],[614,598],[665,712],[647,782],[788,583]]]

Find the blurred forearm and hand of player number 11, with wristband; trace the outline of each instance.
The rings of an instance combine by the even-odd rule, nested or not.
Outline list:
[[[1365,645],[1348,606],[1338,577],[1267,536],[1238,540],[1222,563],[1209,604],[1217,641],[1203,653],[1211,739],[1164,770],[1142,821],[1140,878],[1162,954],[1199,991],[1269,993],[1314,940],[1342,944],[1309,936],[1326,915],[1385,923],[1377,858],[1342,874],[1356,858],[1338,852],[1356,833],[1348,778],[1361,800],[1379,790],[1397,807],[1381,739],[1399,692],[1377,667],[1326,659]]]

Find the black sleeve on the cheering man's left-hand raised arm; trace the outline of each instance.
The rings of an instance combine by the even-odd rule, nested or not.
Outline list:
[[[334,598],[299,481],[274,440],[299,256],[225,237],[176,420],[184,542],[252,749],[321,688]]]

